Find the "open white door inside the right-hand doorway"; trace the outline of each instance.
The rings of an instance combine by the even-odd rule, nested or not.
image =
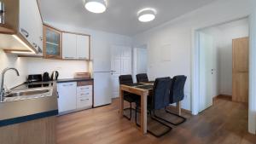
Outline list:
[[[212,36],[200,32],[200,107],[202,112],[212,106],[213,77],[215,74],[213,66],[213,39]]]

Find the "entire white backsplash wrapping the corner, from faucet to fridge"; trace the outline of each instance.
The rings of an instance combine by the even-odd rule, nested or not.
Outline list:
[[[42,58],[21,58],[17,55],[6,54],[0,49],[0,72],[6,67],[15,67],[20,77],[13,71],[6,72],[4,84],[13,88],[26,81],[28,74],[43,74],[58,71],[59,78],[73,78],[75,72],[88,72],[88,62],[83,60],[48,60]],[[2,77],[0,77],[0,80]]]

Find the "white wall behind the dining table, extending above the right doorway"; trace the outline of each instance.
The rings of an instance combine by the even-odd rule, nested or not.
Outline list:
[[[173,77],[177,74],[188,76],[185,85],[186,96],[182,107],[191,110],[193,30],[245,17],[251,14],[255,5],[254,0],[217,0],[176,20],[135,36],[135,45],[147,44],[148,46],[149,77]],[[169,61],[161,60],[160,48],[165,44],[171,45],[171,60]],[[196,109],[193,112],[196,112]]]

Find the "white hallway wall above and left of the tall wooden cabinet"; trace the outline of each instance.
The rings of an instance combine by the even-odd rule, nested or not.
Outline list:
[[[232,39],[248,37],[248,20],[235,20],[229,23],[203,29],[214,40],[214,55],[217,66],[217,88],[215,95],[232,95]]]

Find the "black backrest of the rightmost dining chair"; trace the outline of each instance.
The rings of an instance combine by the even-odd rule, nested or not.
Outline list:
[[[183,101],[184,98],[184,86],[186,83],[186,76],[175,76],[172,80],[170,89],[170,103]]]

